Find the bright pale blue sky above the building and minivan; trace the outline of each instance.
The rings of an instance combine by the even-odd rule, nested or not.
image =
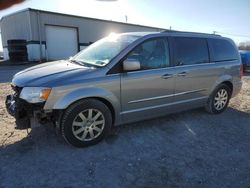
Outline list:
[[[181,31],[213,33],[237,44],[250,41],[250,0],[26,0],[0,11],[0,18],[35,8],[64,14]],[[0,39],[0,51],[2,50]]]

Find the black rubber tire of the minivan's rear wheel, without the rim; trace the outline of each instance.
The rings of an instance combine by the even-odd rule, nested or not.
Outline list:
[[[225,90],[227,92],[227,101],[224,104],[224,106],[221,109],[217,109],[215,106],[215,98],[218,94],[219,91],[221,90]],[[231,89],[226,85],[226,84],[221,84],[219,85],[214,91],[213,93],[210,95],[206,105],[205,105],[205,109],[207,112],[211,113],[211,114],[220,114],[222,113],[228,106],[228,103],[230,101],[232,95],[232,91]]]

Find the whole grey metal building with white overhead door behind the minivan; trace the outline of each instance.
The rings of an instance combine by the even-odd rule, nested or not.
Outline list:
[[[4,59],[9,59],[7,41],[22,39],[29,61],[68,58],[111,32],[165,30],[30,8],[3,17],[0,27]]]

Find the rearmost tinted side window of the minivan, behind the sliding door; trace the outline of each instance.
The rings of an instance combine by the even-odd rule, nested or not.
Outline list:
[[[210,47],[213,52],[212,61],[230,61],[238,59],[238,53],[234,46],[227,40],[210,39]]]

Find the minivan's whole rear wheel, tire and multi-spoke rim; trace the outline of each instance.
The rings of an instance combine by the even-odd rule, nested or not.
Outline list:
[[[230,98],[231,89],[226,84],[221,84],[210,95],[205,108],[209,113],[219,114],[227,108]]]

